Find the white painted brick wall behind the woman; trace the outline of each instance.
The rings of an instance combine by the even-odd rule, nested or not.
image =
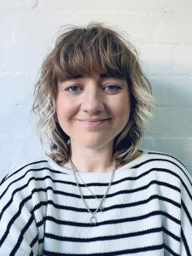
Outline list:
[[[157,110],[143,148],[192,172],[191,0],[0,0],[0,179],[44,154],[29,121],[39,67],[61,26],[92,20],[131,38],[152,82]]]

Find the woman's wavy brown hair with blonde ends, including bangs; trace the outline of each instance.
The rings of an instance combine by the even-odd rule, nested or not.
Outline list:
[[[123,131],[114,138],[113,160],[127,162],[143,141],[152,117],[153,96],[148,79],[138,61],[137,50],[118,32],[100,23],[70,27],[57,38],[54,49],[44,59],[35,86],[32,112],[38,115],[41,142],[49,143],[47,154],[59,165],[70,157],[69,137],[58,122],[55,97],[58,81],[77,75],[103,72],[126,79],[131,95],[131,115]]]

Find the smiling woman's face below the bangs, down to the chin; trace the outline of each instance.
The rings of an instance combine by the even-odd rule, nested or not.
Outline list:
[[[56,113],[72,145],[101,149],[113,147],[113,139],[127,124],[131,112],[125,79],[94,73],[58,82]]]

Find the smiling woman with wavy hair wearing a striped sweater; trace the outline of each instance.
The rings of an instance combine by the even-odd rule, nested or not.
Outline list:
[[[100,24],[73,27],[35,90],[48,157],[1,184],[1,255],[192,255],[192,182],[139,149],[153,97],[137,52]]]

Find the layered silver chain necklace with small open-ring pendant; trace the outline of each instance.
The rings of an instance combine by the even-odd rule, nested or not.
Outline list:
[[[73,174],[74,174],[74,177],[75,177],[75,180],[76,180],[76,183],[77,183],[77,187],[78,187],[78,189],[79,189],[80,197],[81,197],[82,201],[84,202],[84,207],[85,207],[85,208],[87,209],[87,211],[90,212],[90,214],[91,214],[91,217],[90,217],[90,224],[96,224],[96,223],[97,223],[96,213],[99,211],[99,209],[102,209],[102,208],[103,208],[103,203],[104,203],[104,201],[106,200],[106,196],[108,195],[108,191],[109,191],[109,189],[110,189],[110,187],[111,187],[111,184],[112,184],[112,182],[113,182],[113,177],[114,177],[114,172],[115,172],[115,170],[116,170],[116,167],[113,169],[113,172],[112,172],[111,177],[110,177],[110,181],[109,181],[109,183],[108,183],[108,188],[107,188],[105,194],[102,196],[102,200],[100,201],[98,207],[96,208],[96,211],[95,211],[95,212],[91,212],[91,211],[90,211],[90,207],[88,206],[87,202],[86,202],[85,199],[84,199],[83,191],[82,191],[81,187],[79,186],[79,180],[78,180],[78,176],[77,176],[77,173],[78,173],[78,172],[77,172],[75,166],[73,165],[73,162],[72,162],[71,159],[69,159],[69,162],[70,162],[71,168],[72,168],[72,170],[73,170]],[[82,180],[82,181],[83,181],[83,180]],[[83,181],[83,183],[84,183],[84,181]],[[84,185],[86,186],[86,188],[88,188],[88,186],[87,186],[85,183],[84,183]],[[89,188],[88,188],[88,189],[89,189]],[[90,190],[90,189],[89,189],[89,190]],[[90,190],[90,193],[91,193],[92,195],[94,195],[91,190]],[[98,198],[96,197],[96,195],[94,195],[94,197],[98,200]]]

